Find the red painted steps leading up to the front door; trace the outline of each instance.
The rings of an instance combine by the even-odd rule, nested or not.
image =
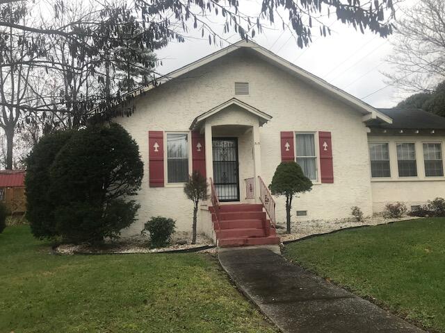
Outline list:
[[[213,207],[209,207],[212,221],[216,221]],[[261,204],[220,205],[219,230],[216,231],[218,246],[252,246],[280,244],[274,228]]]

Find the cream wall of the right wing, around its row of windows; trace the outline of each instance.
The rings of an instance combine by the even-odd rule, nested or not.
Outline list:
[[[369,135],[369,142],[389,144],[390,178],[372,178],[371,188],[373,194],[373,211],[382,212],[387,203],[401,201],[408,209],[412,205],[423,205],[428,200],[445,197],[445,177],[426,177],[423,161],[423,143],[442,144],[442,156],[444,156],[445,137],[437,135],[429,136],[388,136]],[[416,149],[416,177],[398,177],[396,144],[410,142]]]

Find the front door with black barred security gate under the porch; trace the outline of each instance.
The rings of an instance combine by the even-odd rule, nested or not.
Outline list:
[[[238,139],[213,138],[213,183],[220,201],[239,201]]]

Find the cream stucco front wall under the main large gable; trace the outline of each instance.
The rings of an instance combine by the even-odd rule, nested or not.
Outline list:
[[[234,95],[235,82],[250,83],[250,94]],[[264,60],[231,54],[153,89],[136,100],[136,111],[131,117],[115,119],[138,142],[145,171],[137,198],[141,205],[139,221],[125,234],[140,232],[143,223],[156,215],[176,219],[178,230],[191,230],[193,206],[185,198],[182,187],[149,187],[148,131],[188,131],[197,115],[233,97],[273,117],[259,128],[261,175],[266,184],[281,162],[280,131],[332,133],[334,184],[316,184],[311,192],[297,198],[292,209],[293,220],[296,210],[307,210],[305,219],[346,217],[353,205],[361,207],[364,214],[372,213],[369,153],[362,114]],[[242,125],[252,121],[248,115],[239,123],[234,117],[245,117],[245,114],[230,112],[220,113],[209,121],[219,119]],[[253,165],[248,146],[250,137],[249,131],[238,137],[241,188],[243,178],[249,176],[249,164]],[[241,199],[244,196],[241,189]],[[284,200],[276,200],[277,221],[284,221]]]

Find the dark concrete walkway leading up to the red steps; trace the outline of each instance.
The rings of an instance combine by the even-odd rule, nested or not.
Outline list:
[[[283,332],[424,332],[270,250],[226,249],[218,256],[237,287]]]

